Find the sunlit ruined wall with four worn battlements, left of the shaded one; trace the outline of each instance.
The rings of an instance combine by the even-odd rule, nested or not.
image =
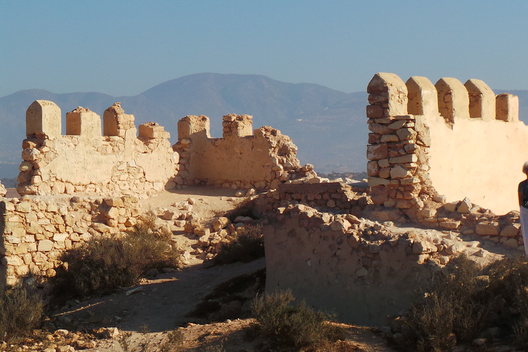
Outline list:
[[[21,195],[72,194],[140,195],[173,188],[178,154],[162,126],[134,125],[119,103],[100,116],[78,107],[66,114],[61,135],[61,109],[36,100],[26,111],[26,135],[19,169]]]

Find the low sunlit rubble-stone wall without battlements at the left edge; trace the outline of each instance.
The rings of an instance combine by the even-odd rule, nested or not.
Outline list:
[[[131,230],[143,214],[134,196],[118,198],[39,196],[0,201],[0,287],[21,278],[54,276],[63,250],[94,235]],[[4,281],[5,282],[2,282]]]

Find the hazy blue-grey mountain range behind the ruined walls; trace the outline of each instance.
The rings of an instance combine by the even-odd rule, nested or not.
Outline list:
[[[519,96],[520,118],[528,122],[528,90],[507,92]],[[168,80],[137,96],[28,89],[0,98],[0,178],[18,175],[25,110],[38,99],[52,100],[61,108],[63,133],[67,111],[82,106],[102,116],[111,104],[121,102],[125,113],[135,116],[136,126],[158,122],[170,132],[172,143],[177,140],[177,122],[186,115],[207,115],[212,137],[221,137],[222,116],[245,113],[253,115],[254,128],[269,125],[292,137],[300,162],[314,164],[319,173],[366,168],[366,91],[344,93],[265,76],[207,73]]]

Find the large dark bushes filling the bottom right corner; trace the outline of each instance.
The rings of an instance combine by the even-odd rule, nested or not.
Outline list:
[[[528,348],[528,263],[525,258],[503,259],[479,267],[460,256],[437,273],[404,318],[406,349],[447,351],[458,343],[471,343],[499,328],[500,336],[516,336]]]

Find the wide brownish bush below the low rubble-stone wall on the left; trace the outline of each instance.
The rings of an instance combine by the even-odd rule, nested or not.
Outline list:
[[[156,233],[153,224],[140,221],[128,234],[94,236],[63,252],[59,259],[65,262],[65,269],[57,271],[58,291],[76,296],[107,294],[137,284],[149,269],[176,267],[179,252]]]

